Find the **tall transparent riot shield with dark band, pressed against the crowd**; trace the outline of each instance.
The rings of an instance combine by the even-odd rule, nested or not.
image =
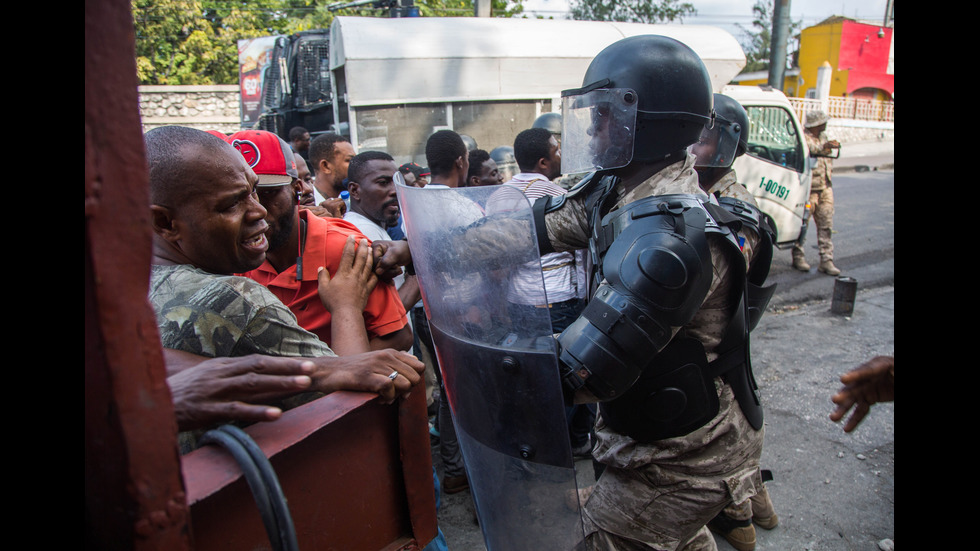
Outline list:
[[[540,269],[530,204],[507,186],[397,189],[487,549],[580,548],[548,308],[507,299],[511,273]]]

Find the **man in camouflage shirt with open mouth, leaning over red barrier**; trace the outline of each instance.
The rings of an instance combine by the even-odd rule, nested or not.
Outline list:
[[[271,291],[232,275],[258,267],[268,249],[259,179],[241,153],[186,127],[157,128],[144,138],[154,231],[149,300],[164,348],[201,357],[309,357],[311,392],[288,397],[284,408],[341,389],[376,392],[390,402],[421,380],[424,366],[405,352],[338,357]],[[321,274],[321,284],[329,281]],[[182,452],[194,436],[182,433]]]

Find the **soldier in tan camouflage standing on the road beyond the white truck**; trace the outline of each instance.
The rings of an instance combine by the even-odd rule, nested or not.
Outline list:
[[[804,137],[810,156],[816,159],[810,176],[810,208],[813,209],[813,223],[817,225],[817,250],[820,251],[820,265],[817,270],[827,275],[838,275],[840,269],[834,265],[834,188],[832,182],[834,150],[840,150],[840,142],[827,139],[827,121],[823,111],[811,111],[806,115]],[[793,267],[808,271],[806,253],[797,242],[793,245]]]

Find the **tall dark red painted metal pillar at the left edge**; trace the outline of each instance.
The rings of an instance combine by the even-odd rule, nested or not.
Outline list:
[[[85,2],[85,542],[189,549],[177,425],[153,311],[129,0]]]

